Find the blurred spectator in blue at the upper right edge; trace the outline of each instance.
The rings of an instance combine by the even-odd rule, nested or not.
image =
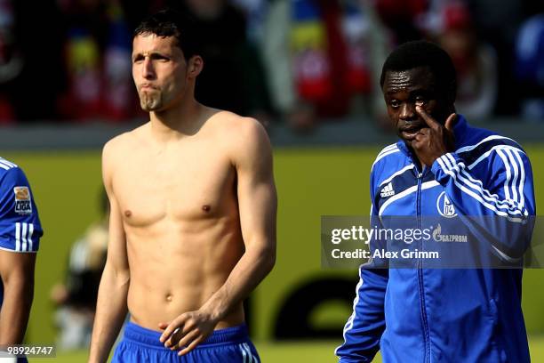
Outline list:
[[[516,76],[522,115],[544,120],[544,13],[526,20],[516,40]]]

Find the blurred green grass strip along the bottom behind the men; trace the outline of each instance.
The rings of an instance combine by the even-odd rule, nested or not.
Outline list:
[[[312,363],[331,363],[337,362],[334,357],[334,349],[340,342],[312,342],[312,343],[256,343],[260,358],[264,363],[272,362],[312,362]],[[544,336],[532,336],[529,341],[531,358],[534,362],[544,361]],[[86,351],[76,351],[69,353],[58,353],[55,362],[76,363],[84,362],[87,359]],[[52,359],[29,359],[30,362],[48,363]],[[374,362],[381,362],[380,354],[374,359]]]

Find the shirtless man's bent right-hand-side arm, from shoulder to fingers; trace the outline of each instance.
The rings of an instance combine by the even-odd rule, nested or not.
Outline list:
[[[233,133],[234,134],[234,133]],[[238,306],[268,275],[276,261],[276,188],[272,149],[263,127],[255,120],[236,130],[233,163],[245,253],[220,289],[198,310],[181,314],[164,325],[161,342],[188,353],[210,335],[220,319]],[[178,332],[174,331],[180,328]]]

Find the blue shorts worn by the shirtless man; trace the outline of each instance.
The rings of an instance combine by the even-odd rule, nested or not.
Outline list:
[[[164,348],[159,341],[160,336],[160,332],[127,322],[123,340],[117,345],[112,362],[260,363],[245,325],[214,330],[203,343],[182,357],[178,356],[178,351]]]

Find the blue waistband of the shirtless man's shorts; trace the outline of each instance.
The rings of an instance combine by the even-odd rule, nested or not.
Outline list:
[[[138,324],[134,324],[131,321],[128,321],[124,325],[124,339],[134,343],[143,343],[164,348],[164,343],[159,341],[161,335],[161,332],[146,327],[140,327]],[[247,326],[245,324],[236,327],[226,327],[224,329],[214,330],[212,335],[208,336],[203,343],[198,344],[196,348],[212,344],[241,343],[249,339],[248,336]]]

